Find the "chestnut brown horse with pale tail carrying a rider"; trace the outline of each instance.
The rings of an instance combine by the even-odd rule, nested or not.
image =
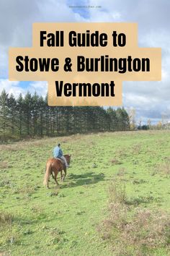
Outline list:
[[[66,161],[69,164],[70,161],[71,161],[71,155],[64,155],[64,157],[66,158]],[[59,171],[61,171],[61,180],[64,181],[67,173],[66,173],[66,166],[63,163],[63,161],[61,161],[58,158],[48,159],[48,162],[46,164],[46,170],[45,170],[45,176],[44,176],[43,184],[46,187],[48,187],[48,182],[49,182],[49,179],[50,179],[50,175],[52,175],[56,184],[59,185],[58,181],[57,181],[57,176],[58,176]],[[64,176],[62,175],[62,171],[64,171]]]

